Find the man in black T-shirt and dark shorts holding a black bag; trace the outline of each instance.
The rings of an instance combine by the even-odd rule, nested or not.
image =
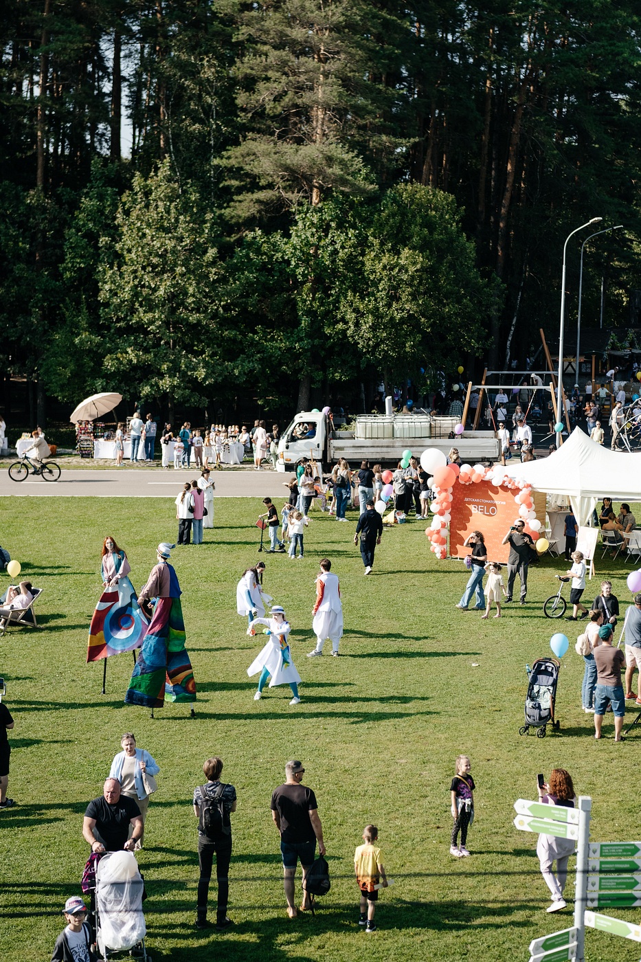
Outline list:
[[[303,883],[312,867],[316,854],[317,839],[321,855],[325,853],[322,841],[322,825],[317,811],[316,796],[311,788],[301,785],[305,770],[302,762],[288,762],[285,766],[286,782],[279,785],[271,796],[271,817],[280,832],[280,850],[283,855],[283,873],[287,914],[290,919],[297,915],[295,907],[295,873],[298,859],[302,866]],[[307,893],[303,895],[301,912],[309,908]]]

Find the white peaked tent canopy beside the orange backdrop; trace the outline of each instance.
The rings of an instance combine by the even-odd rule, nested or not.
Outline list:
[[[579,525],[588,523],[603,495],[615,501],[641,501],[641,453],[610,451],[590,441],[578,427],[550,457],[507,465],[505,470],[523,478],[534,491],[567,494]]]

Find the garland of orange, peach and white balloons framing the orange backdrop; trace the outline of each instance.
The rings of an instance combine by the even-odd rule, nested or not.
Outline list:
[[[451,502],[453,500],[454,484],[472,485],[480,481],[489,481],[496,488],[506,488],[514,493],[514,501],[519,518],[525,521],[525,532],[535,543],[536,550],[543,554],[550,547],[547,538],[541,536],[541,521],[536,517],[536,510],[532,500],[532,489],[526,481],[510,477],[505,468],[495,465],[485,468],[484,465],[449,465],[443,451],[436,447],[428,447],[421,455],[421,467],[432,477],[427,482],[434,493],[430,510],[434,515],[425,535],[431,542],[430,550],[437,558],[447,556],[448,529],[451,520]],[[641,590],[641,589],[639,589]]]

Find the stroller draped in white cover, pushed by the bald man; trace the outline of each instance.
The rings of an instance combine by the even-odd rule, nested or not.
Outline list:
[[[95,934],[103,962],[108,962],[113,952],[128,952],[142,962],[151,962],[144,947],[143,888],[142,875],[132,852],[110,851],[97,863]]]

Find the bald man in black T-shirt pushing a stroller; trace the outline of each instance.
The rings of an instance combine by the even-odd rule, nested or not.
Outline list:
[[[132,827],[131,838],[129,827]],[[108,778],[101,796],[93,798],[85,812],[83,835],[91,851],[133,851],[142,838],[141,810],[133,798],[120,795],[120,782]]]

